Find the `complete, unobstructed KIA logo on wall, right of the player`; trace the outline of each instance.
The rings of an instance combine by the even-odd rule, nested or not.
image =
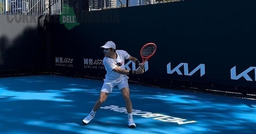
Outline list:
[[[167,64],[167,73],[168,74],[172,74],[174,72],[177,72],[178,75],[183,75],[180,71],[180,67],[184,66],[184,75],[188,75],[191,76],[193,75],[196,71],[198,71],[200,69],[200,76],[202,77],[205,74],[205,65],[204,64],[200,64],[198,65],[193,71],[191,71],[190,73],[188,73],[188,63],[180,63],[178,66],[176,66],[174,69],[171,69],[171,63]]]

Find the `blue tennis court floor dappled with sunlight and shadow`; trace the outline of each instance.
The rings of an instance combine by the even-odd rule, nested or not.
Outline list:
[[[136,128],[127,126],[121,92],[114,88],[95,118],[82,120],[103,81],[60,76],[0,78],[3,134],[254,133],[255,100],[130,84]]]

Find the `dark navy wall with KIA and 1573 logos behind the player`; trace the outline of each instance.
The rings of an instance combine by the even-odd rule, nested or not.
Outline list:
[[[59,16],[52,16],[52,72],[80,75],[95,72],[92,76],[102,78],[105,70],[103,65],[97,65],[97,60],[104,57],[100,46],[106,41],[114,41],[117,49],[126,50],[139,59],[140,48],[154,42],[156,54],[148,61],[148,70],[138,77],[256,88],[255,12],[253,0],[187,0],[79,12],[76,19],[80,24],[71,30],[59,23]],[[66,63],[56,65],[60,57],[67,58]],[[90,58],[94,65],[84,63]],[[202,70],[200,74],[198,70],[193,75],[185,75],[186,64],[180,64],[182,75],[168,74],[168,63],[171,70],[180,63],[188,63],[188,74],[202,64],[205,73]],[[97,66],[97,69],[88,66]]]

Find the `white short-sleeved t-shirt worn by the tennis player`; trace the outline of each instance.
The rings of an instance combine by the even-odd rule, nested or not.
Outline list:
[[[117,66],[121,69],[125,69],[124,67],[124,59],[128,59],[130,55],[124,50],[116,50],[117,58],[113,59],[108,56],[104,57],[103,64],[107,71],[106,78],[110,80],[119,80],[124,77],[124,74],[120,74],[118,72],[113,71]]]

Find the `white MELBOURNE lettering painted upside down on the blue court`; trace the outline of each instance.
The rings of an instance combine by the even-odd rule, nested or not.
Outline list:
[[[100,107],[100,108],[101,109],[109,109],[109,110],[113,110],[113,111],[120,112],[120,113],[123,113],[126,111],[126,108],[124,108],[124,107],[119,108],[119,106],[115,106],[115,105],[109,105],[109,106]],[[127,111],[126,111],[126,113],[127,113]],[[153,119],[162,121],[162,122],[178,123],[179,125],[187,124],[187,123],[196,123],[196,121],[187,121],[187,119],[172,117],[169,115],[152,114],[151,112],[143,112],[141,110],[134,110],[134,109],[132,109],[132,115],[141,115],[142,117],[146,117],[146,118],[157,117],[157,118],[153,118]],[[187,122],[184,122],[184,121],[187,121]]]

